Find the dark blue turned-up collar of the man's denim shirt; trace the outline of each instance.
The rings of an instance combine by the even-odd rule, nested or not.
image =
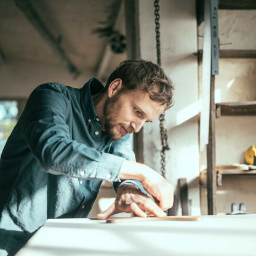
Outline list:
[[[91,121],[93,121],[95,120],[95,118],[100,119],[95,111],[92,95],[97,94],[103,88],[103,84],[96,78],[90,79],[81,88],[81,104],[87,120],[90,119]]]

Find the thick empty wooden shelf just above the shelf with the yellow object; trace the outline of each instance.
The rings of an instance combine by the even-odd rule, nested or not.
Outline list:
[[[223,102],[216,104],[216,118],[220,116],[249,116],[256,115],[254,102]]]

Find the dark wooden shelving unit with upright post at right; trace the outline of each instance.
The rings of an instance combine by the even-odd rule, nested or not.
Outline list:
[[[198,25],[204,19],[204,0],[197,0]],[[255,1],[219,0],[218,9],[252,10],[256,9]],[[202,61],[202,50],[198,53],[198,62]],[[220,58],[256,58],[256,50],[220,50]],[[220,184],[222,175],[232,174],[256,174],[256,170],[228,169],[217,170],[216,167],[216,118],[221,116],[245,116],[256,115],[256,101],[252,102],[220,102],[215,103],[215,76],[210,79],[210,116],[209,116],[209,144],[207,145],[207,204],[208,214],[217,214],[217,183]]]

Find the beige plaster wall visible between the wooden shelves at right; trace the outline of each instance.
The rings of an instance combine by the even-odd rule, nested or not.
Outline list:
[[[256,10],[219,10],[218,26],[221,50],[256,49]],[[198,33],[203,34],[203,24]],[[199,49],[202,49],[201,38]],[[201,66],[199,70],[201,73]],[[255,70],[255,58],[220,58],[219,74],[215,76],[215,102],[256,100]],[[255,125],[255,116],[222,116],[216,120],[217,166],[246,163],[245,151],[256,144]],[[204,151],[201,154],[201,170],[206,165]],[[255,181],[255,175],[223,177],[223,185],[217,188],[217,212],[230,212],[232,202],[246,202],[248,212],[255,213]],[[207,214],[206,196],[206,188],[202,187],[202,214]]]

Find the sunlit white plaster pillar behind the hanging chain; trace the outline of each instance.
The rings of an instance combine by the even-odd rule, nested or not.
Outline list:
[[[178,178],[187,178],[191,214],[200,214],[199,148],[198,148],[198,62],[195,1],[167,1],[160,5],[162,68],[175,85],[175,104],[166,111],[170,150],[166,151],[166,178],[176,188],[175,204],[179,204]],[[154,5],[139,1],[140,50],[142,58],[156,62]],[[145,164],[159,171],[161,139],[159,121],[145,124],[143,129]],[[174,214],[181,214],[177,207]]]

